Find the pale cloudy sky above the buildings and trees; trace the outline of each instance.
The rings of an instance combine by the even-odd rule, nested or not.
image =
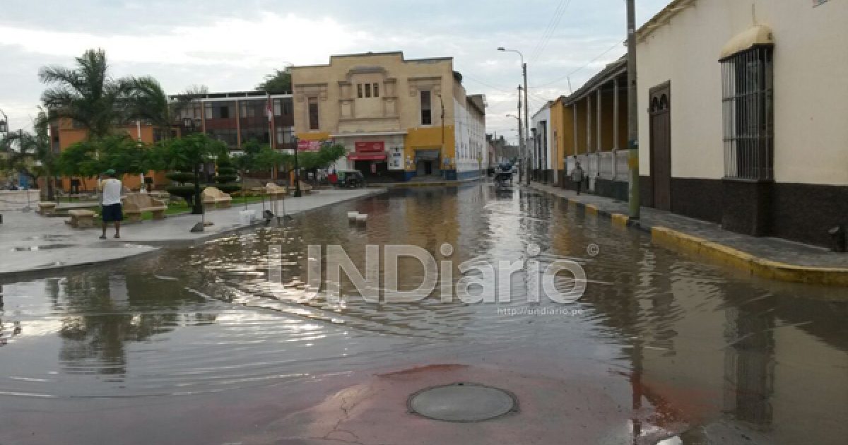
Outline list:
[[[667,0],[637,0],[644,23]],[[515,140],[516,86],[524,53],[530,111],[577,89],[625,48],[624,0],[3,0],[0,109],[29,128],[45,64],[70,66],[103,47],[113,74],[153,75],[168,92],[206,85],[253,89],[292,64],[331,54],[402,50],[454,57],[466,90],[488,98],[488,132]]]

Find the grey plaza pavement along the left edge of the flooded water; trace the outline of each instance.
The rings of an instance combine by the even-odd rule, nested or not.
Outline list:
[[[282,214],[298,214],[310,209],[341,203],[349,199],[374,196],[385,189],[321,190],[311,195],[278,201],[277,211]],[[31,192],[33,195],[36,192]],[[64,223],[67,218],[45,217],[35,211],[22,212],[25,197],[20,193],[4,193],[0,199],[0,276],[27,275],[48,270],[59,270],[73,266],[96,264],[104,261],[126,259],[142,253],[156,251],[174,242],[197,242],[241,229],[239,220],[243,205],[232,209],[209,210],[205,220],[213,225],[202,233],[189,230],[200,221],[199,215],[171,215],[165,220],[146,220],[122,225],[120,239],[114,239],[114,229],[106,232],[109,239],[100,240],[100,228],[73,229]],[[269,203],[265,203],[267,208]],[[261,203],[248,205],[254,212],[262,210]]]

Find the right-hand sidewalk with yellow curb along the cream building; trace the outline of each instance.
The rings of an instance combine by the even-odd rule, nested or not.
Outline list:
[[[652,242],[778,281],[848,286],[848,254],[781,238],[747,236],[720,225],[643,207],[639,221],[628,219],[628,203],[533,183],[533,189],[563,197],[589,214],[650,231]]]

